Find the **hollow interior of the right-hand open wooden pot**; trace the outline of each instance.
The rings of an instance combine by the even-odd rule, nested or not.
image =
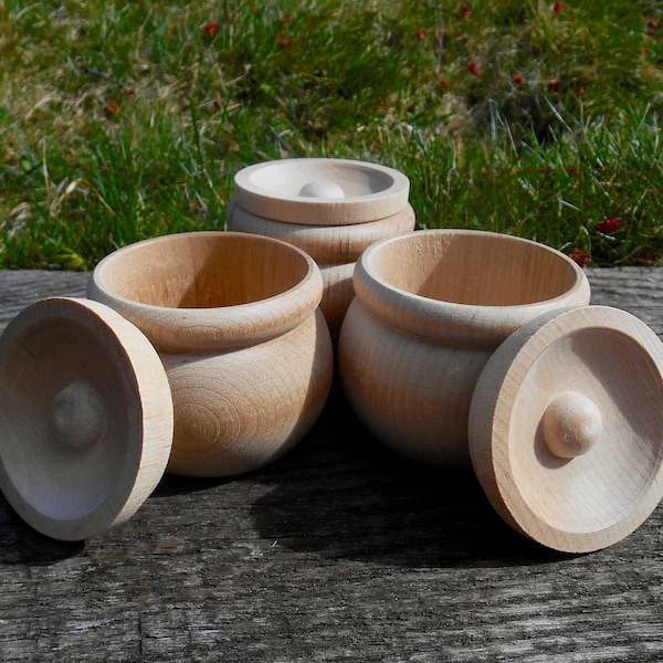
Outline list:
[[[379,248],[375,274],[442,302],[518,306],[554,299],[578,281],[570,259],[543,244],[481,232],[413,232]]]

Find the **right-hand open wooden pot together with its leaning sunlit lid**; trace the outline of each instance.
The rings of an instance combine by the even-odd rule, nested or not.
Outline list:
[[[589,551],[663,493],[663,346],[587,306],[568,256],[496,233],[429,230],[367,249],[341,327],[346,396],[378,440],[444,467],[472,462],[507,523]]]

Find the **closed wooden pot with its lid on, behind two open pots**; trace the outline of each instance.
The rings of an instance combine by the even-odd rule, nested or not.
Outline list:
[[[283,240],[316,261],[324,283],[320,308],[336,341],[355,296],[357,257],[373,242],[414,229],[409,186],[403,173],[362,161],[256,164],[235,175],[227,225]]]

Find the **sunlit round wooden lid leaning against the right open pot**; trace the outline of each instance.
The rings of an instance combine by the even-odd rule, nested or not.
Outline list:
[[[488,360],[469,440],[512,527],[566,552],[610,546],[663,497],[663,344],[615,308],[547,313]]]

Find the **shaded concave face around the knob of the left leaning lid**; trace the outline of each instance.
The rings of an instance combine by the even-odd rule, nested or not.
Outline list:
[[[34,324],[0,362],[2,475],[21,499],[53,519],[92,514],[123,481],[131,449],[139,448],[126,422],[137,408],[117,386],[126,378],[104,340],[76,320]],[[95,443],[71,446],[53,428],[59,394],[86,387],[105,403]],[[72,430],[80,434],[81,430]]]

